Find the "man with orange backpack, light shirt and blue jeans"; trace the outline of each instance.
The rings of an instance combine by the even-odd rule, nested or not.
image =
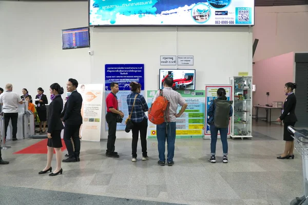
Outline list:
[[[149,111],[149,120],[155,123],[160,121],[160,115],[157,114],[164,111],[164,116],[162,116],[162,123],[157,124],[157,141],[158,141],[158,152],[160,166],[165,166],[165,143],[167,140],[167,163],[168,166],[174,165],[174,155],[175,155],[175,141],[176,141],[176,119],[180,117],[185,109],[187,108],[187,103],[185,99],[177,91],[172,90],[174,84],[173,78],[167,77],[164,80],[164,89],[158,91],[153,99],[153,104],[151,110]],[[157,101],[156,101],[157,100]],[[179,113],[178,104],[182,106]],[[156,123],[155,123],[156,124]]]

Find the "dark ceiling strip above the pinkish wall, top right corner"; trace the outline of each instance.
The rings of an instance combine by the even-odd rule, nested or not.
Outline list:
[[[7,1],[25,1],[25,2],[86,2],[87,0],[7,0]],[[244,0],[247,1],[247,0]],[[308,0],[255,0],[255,6],[292,6],[308,5]]]

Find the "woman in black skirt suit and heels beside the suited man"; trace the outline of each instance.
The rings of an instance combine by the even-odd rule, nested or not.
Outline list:
[[[52,102],[48,108],[48,142],[47,142],[47,165],[45,169],[38,174],[46,174],[47,172],[51,172],[51,160],[53,156],[53,149],[55,150],[56,157],[56,169],[49,174],[49,176],[56,176],[58,174],[62,174],[63,170],[61,168],[62,161],[62,139],[61,139],[61,131],[64,129],[62,120],[61,120],[61,112],[63,109],[63,99],[61,94],[63,94],[63,88],[54,83],[50,86],[50,98]]]

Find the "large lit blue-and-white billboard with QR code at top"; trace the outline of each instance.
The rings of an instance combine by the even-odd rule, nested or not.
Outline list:
[[[254,0],[89,0],[89,26],[251,26]]]

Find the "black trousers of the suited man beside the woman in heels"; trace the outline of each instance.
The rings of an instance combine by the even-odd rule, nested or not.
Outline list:
[[[68,151],[69,158],[78,158],[80,155],[80,138],[79,138],[79,129],[81,125],[65,125],[64,127],[64,142],[66,149]],[[71,138],[74,143],[71,141]]]

